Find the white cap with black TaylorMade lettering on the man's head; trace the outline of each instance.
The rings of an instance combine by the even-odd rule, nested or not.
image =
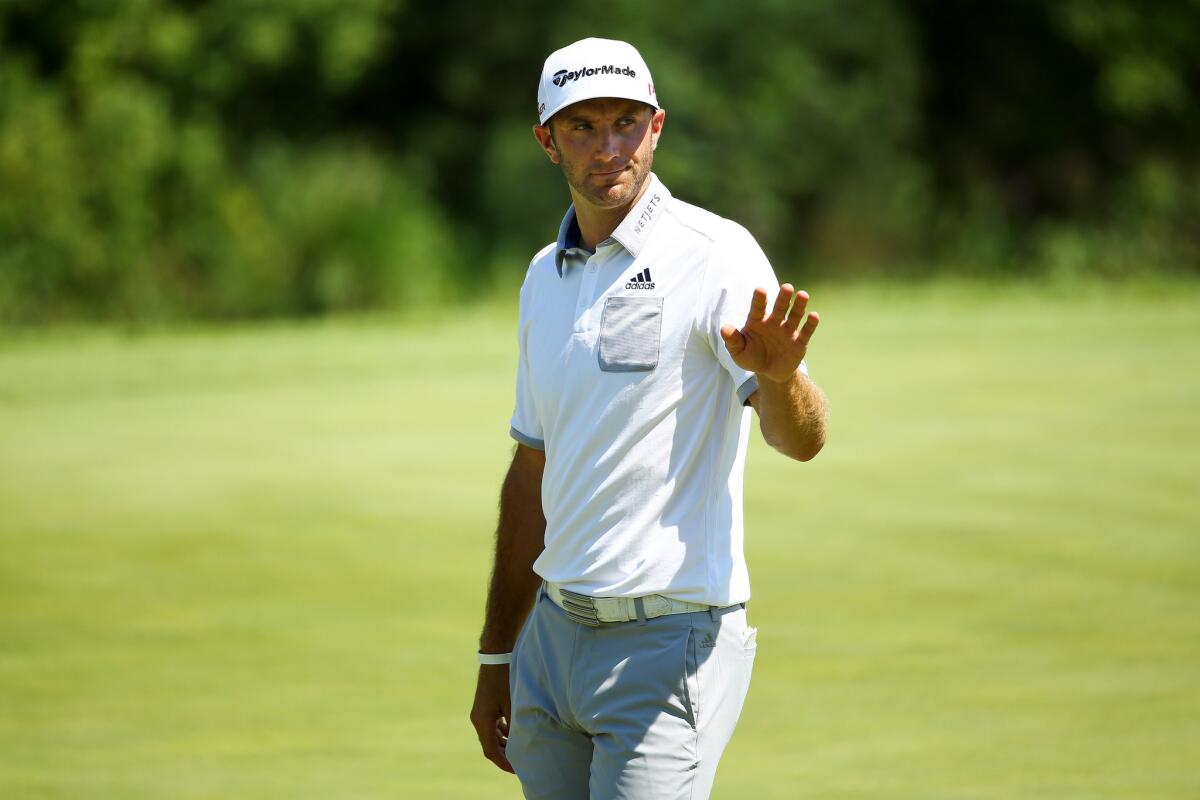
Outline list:
[[[551,53],[538,84],[538,122],[545,125],[565,106],[594,97],[624,97],[659,107],[650,70],[632,44],[584,38]]]

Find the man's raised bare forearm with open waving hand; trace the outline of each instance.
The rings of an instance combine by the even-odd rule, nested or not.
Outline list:
[[[758,414],[762,438],[797,461],[809,461],[821,451],[828,417],[824,393],[800,369],[821,323],[816,312],[809,313],[808,305],[806,291],[785,283],[767,314],[767,290],[758,288],[745,325],[740,330],[721,327],[734,363],[757,375],[758,390],[749,401]]]

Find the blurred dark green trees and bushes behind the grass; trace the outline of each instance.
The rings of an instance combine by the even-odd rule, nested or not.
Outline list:
[[[784,275],[1200,271],[1200,0],[4,0],[0,320],[511,289],[568,201],[536,76],[589,35]]]

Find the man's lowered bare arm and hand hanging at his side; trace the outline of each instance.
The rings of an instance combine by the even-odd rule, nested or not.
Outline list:
[[[480,652],[510,652],[516,644],[541,578],[533,563],[545,547],[546,517],[541,509],[541,476],[546,453],[517,445],[512,465],[500,488],[500,521],[496,531],[496,561],[487,590]],[[508,721],[511,715],[509,667],[482,664],[475,686],[470,722],[479,735],[484,756],[511,772],[504,757]]]

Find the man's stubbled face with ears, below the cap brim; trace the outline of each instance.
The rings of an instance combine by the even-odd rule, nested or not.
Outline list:
[[[646,103],[600,97],[568,106],[535,126],[534,136],[562,167],[577,203],[616,209],[646,184],[665,118]]]

